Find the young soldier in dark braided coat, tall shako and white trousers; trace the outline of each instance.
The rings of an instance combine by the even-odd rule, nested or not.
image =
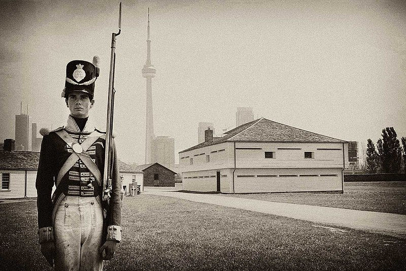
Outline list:
[[[93,63],[98,63],[96,56]],[[89,117],[99,74],[94,64],[67,63],[62,91],[70,110],[66,126],[41,131],[36,181],[39,240],[41,253],[56,270],[101,270],[121,241],[122,184],[114,144],[110,203],[101,200],[105,133]]]

